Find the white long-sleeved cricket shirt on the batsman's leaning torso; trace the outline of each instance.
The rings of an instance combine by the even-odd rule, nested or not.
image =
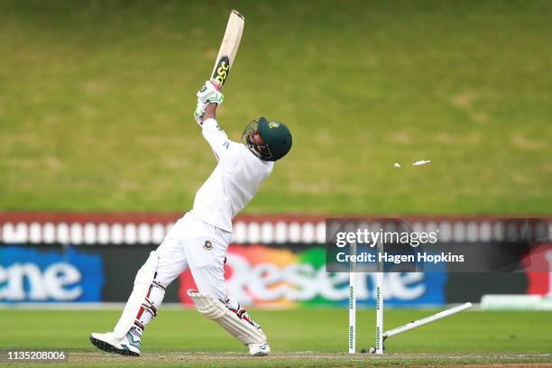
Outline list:
[[[196,193],[191,213],[207,224],[232,231],[232,218],[253,198],[274,162],[262,161],[242,143],[232,142],[215,119],[202,124],[203,137],[218,164]]]

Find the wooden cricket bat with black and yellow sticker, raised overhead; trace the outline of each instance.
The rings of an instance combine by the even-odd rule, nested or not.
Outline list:
[[[230,68],[234,65],[235,54],[240,47],[242,33],[244,32],[244,24],[244,15],[232,10],[230,18],[228,18],[228,23],[226,24],[225,37],[218,50],[215,67],[211,74],[211,82],[219,89],[225,86]]]

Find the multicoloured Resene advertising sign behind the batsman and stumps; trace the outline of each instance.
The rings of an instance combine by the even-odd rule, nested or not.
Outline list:
[[[320,306],[346,305],[349,275],[326,271],[323,247],[305,251],[264,245],[231,245],[225,265],[226,289],[244,305]],[[375,274],[357,275],[358,303],[375,302]],[[446,272],[386,273],[385,299],[389,306],[442,305],[446,303]],[[192,304],[186,290],[195,288],[189,271],[180,276],[179,298]]]

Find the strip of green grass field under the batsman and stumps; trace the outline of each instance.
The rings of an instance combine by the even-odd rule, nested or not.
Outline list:
[[[391,309],[385,312],[385,326],[397,327],[434,312]],[[88,342],[90,332],[105,332],[114,326],[118,311],[4,309],[0,313],[0,350],[66,349],[71,356],[69,364],[60,366],[552,363],[550,312],[463,312],[391,337],[383,358],[343,354],[347,349],[346,309],[253,310],[252,315],[269,336],[274,358],[249,357],[244,346],[192,309],[161,310],[144,333],[140,359],[98,352]],[[374,321],[373,309],[358,312],[359,351],[373,345]]]

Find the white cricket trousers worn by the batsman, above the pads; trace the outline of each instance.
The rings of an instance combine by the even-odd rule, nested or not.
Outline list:
[[[189,270],[200,292],[225,301],[225,256],[232,234],[191,213],[180,218],[157,248],[155,280],[167,287]]]

